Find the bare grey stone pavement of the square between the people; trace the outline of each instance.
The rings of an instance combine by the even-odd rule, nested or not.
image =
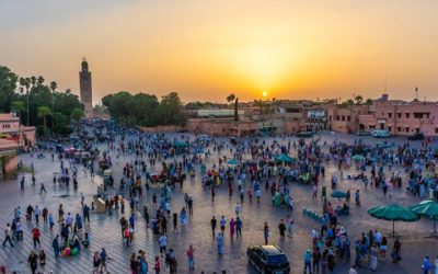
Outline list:
[[[339,136],[323,136],[328,140],[338,138]],[[344,136],[343,136],[344,137]],[[351,138],[351,137],[345,137]],[[273,138],[269,139],[269,141]],[[277,138],[279,139],[279,138]],[[372,139],[370,139],[372,141]],[[80,192],[87,195],[88,204],[91,203],[92,196],[96,192],[96,186],[101,182],[99,176],[91,179],[84,173],[82,168],[79,168],[79,189],[78,191],[66,186],[60,186],[58,183],[51,183],[53,172],[59,170],[59,162],[54,163],[48,158],[46,159],[31,159],[28,155],[21,156],[25,163],[34,162],[36,170],[37,186],[31,186],[31,178],[26,175],[26,186],[24,192],[20,192],[20,186],[16,181],[0,182],[0,228],[4,229],[5,224],[12,220],[13,208],[21,206],[22,212],[28,204],[38,205],[39,208],[47,206],[49,212],[57,216],[57,208],[59,203],[64,204],[66,213],[71,212],[81,213]],[[113,157],[115,159],[115,157]],[[124,156],[115,160],[113,172],[116,184],[119,181],[122,167],[127,160],[132,159],[132,156]],[[217,157],[211,157],[208,161],[208,167],[212,164],[212,160]],[[335,167],[330,164],[326,174],[327,180],[334,172]],[[356,173],[355,170],[348,170],[345,174]],[[39,195],[39,182],[46,184],[47,194]],[[384,233],[392,230],[392,224],[371,218],[366,212],[369,207],[388,204],[400,203],[403,205],[412,205],[418,202],[418,198],[406,194],[405,191],[395,189],[392,198],[383,197],[381,190],[368,187],[365,190],[364,184],[344,180],[341,182],[341,190],[360,190],[361,192],[361,207],[351,207],[349,217],[341,217],[342,224],[346,227],[351,241],[358,239],[362,231],[370,229],[379,229]],[[241,217],[243,219],[243,238],[230,240],[229,231],[226,230],[226,252],[222,256],[217,255],[216,242],[211,237],[209,221],[212,215],[217,219],[224,215],[229,220],[234,216],[234,206],[239,197],[234,196],[230,199],[228,197],[228,190],[226,186],[217,189],[216,201],[212,203],[210,199],[209,189],[204,189],[200,184],[199,174],[196,180],[191,182],[187,180],[184,183],[183,190],[177,187],[173,193],[172,212],[180,213],[184,205],[184,192],[187,192],[194,198],[194,216],[188,218],[185,228],[180,228],[177,233],[172,232],[172,224],[169,224],[169,244],[168,248],[175,250],[176,259],[178,262],[178,273],[188,273],[186,261],[186,250],[189,244],[193,244],[195,251],[195,273],[205,271],[212,273],[214,271],[220,272],[226,270],[227,273],[255,273],[252,266],[246,263],[245,251],[252,244],[263,243],[263,224],[267,221],[270,227],[269,241],[278,244],[287,254],[291,262],[291,273],[302,273],[303,269],[303,253],[307,248],[311,247],[311,229],[319,229],[320,226],[314,220],[302,215],[303,207],[312,208],[321,212],[322,203],[320,199],[311,201],[311,186],[300,185],[292,183],[292,197],[296,203],[296,209],[292,215],[295,218],[295,235],[293,238],[285,240],[279,239],[278,222],[281,218],[286,218],[289,212],[286,208],[274,208],[270,203],[270,193],[264,193],[262,203],[252,204],[244,201],[242,206]],[[152,192],[155,190],[152,190]],[[321,191],[320,191],[321,192]],[[235,192],[234,192],[235,193]],[[330,187],[328,187],[330,194]],[[149,205],[153,209],[151,203],[151,193],[145,195],[142,203]],[[245,197],[246,198],[246,197]],[[334,201],[336,203],[336,201]],[[141,208],[141,207],[140,207]],[[153,210],[151,210],[153,213]],[[129,206],[126,204],[125,215],[128,216]],[[104,247],[107,250],[108,256],[112,259],[107,266],[110,273],[129,273],[129,256],[132,252],[142,249],[147,252],[149,267],[153,265],[153,258],[159,254],[158,243],[151,231],[146,228],[143,218],[140,213],[136,213],[136,237],[134,244],[129,248],[123,244],[119,218],[120,214],[115,213],[112,216],[107,214],[92,214],[91,224],[84,226],[84,230],[89,231],[92,238],[91,247],[87,250],[82,249],[81,253],[72,258],[61,258],[55,260],[51,250],[51,239],[55,232],[50,232],[48,227],[39,224],[42,229],[42,249],[47,253],[46,273],[53,271],[54,273],[91,273],[92,270],[92,253]],[[170,221],[171,222],[171,221]],[[18,273],[30,273],[26,265],[26,259],[31,250],[33,250],[31,229],[32,224],[23,221],[24,227],[24,241],[21,243],[14,242],[15,247],[5,248],[0,247],[0,265],[5,264],[8,270],[16,270]],[[57,231],[56,225],[54,231]],[[430,220],[419,220],[412,224],[396,222],[395,229],[402,235],[402,253],[403,261],[400,264],[392,264],[390,262],[379,262],[378,270],[381,273],[419,273],[419,266],[425,254],[435,258],[437,253],[437,240],[425,238],[427,232],[433,228]],[[0,239],[3,239],[3,232],[0,233]],[[389,239],[389,248],[392,247],[392,239]],[[351,255],[353,255],[351,249]],[[348,273],[349,264],[346,262],[337,262],[335,273]],[[359,273],[370,273],[367,269],[360,269]]]

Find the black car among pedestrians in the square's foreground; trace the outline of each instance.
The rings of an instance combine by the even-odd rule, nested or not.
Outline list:
[[[254,265],[260,273],[287,274],[290,272],[288,259],[275,244],[250,247],[246,258],[247,262]]]

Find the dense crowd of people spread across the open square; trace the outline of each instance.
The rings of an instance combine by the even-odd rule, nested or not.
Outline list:
[[[333,190],[338,187],[339,182],[349,179],[361,182],[365,187],[380,187],[383,196],[391,196],[394,187],[404,186],[407,192],[420,198],[438,197],[438,176],[435,174],[438,151],[430,147],[418,149],[408,144],[369,146],[360,140],[351,145],[339,140],[327,144],[319,138],[292,141],[286,137],[280,138],[281,141],[274,140],[272,144],[265,139],[246,138],[230,145],[228,141],[215,139],[191,141],[188,136],[180,136],[176,140],[176,137],[172,139],[162,134],[143,134],[114,125],[106,127],[106,130],[110,138],[106,148],[100,153],[101,158],[79,162],[83,164],[84,172],[94,176],[94,169],[99,169],[95,167],[97,162],[100,172],[103,172],[103,169],[114,168],[114,158],[132,157],[122,164],[119,178],[111,174],[108,181],[97,187],[91,201],[85,201],[85,196],[81,193],[79,201],[81,212],[71,213],[59,204],[55,216],[56,214],[48,210],[44,204],[28,205],[22,218],[22,209],[19,206],[13,212],[13,219],[5,224],[3,246],[9,243],[11,248],[14,248],[16,242],[23,241],[22,222],[32,224],[35,250],[28,256],[32,273],[36,273],[38,269],[44,270],[46,264],[46,253],[41,249],[39,227],[48,226],[49,231],[53,231],[51,247],[56,259],[77,255],[81,249],[88,249],[91,244],[89,226],[85,224],[90,222],[90,214],[96,209],[99,201],[104,201],[105,213],[122,216],[120,238],[126,248],[130,248],[136,241],[139,214],[145,219],[147,228],[154,235],[160,249],[159,254],[149,260],[151,254],[147,254],[145,250],[132,252],[130,255],[132,274],[160,273],[163,267],[169,269],[170,273],[177,273],[181,265],[174,249],[168,244],[168,235],[177,233],[186,226],[194,215],[196,197],[185,193],[184,206],[175,209],[172,208],[172,193],[176,189],[184,192],[184,182],[187,178],[191,181],[195,180],[196,174],[199,174],[198,180],[208,190],[205,193],[211,195],[212,203],[218,189],[227,189],[229,198],[235,197],[238,201],[234,212],[220,217],[212,216],[210,219],[212,240],[219,256],[224,254],[226,238],[231,240],[234,237],[242,238],[245,229],[242,205],[253,203],[254,196],[254,203],[269,198],[273,210],[284,207],[285,218],[276,226],[279,238],[285,239],[286,235],[291,238],[295,232],[292,183],[308,184],[312,190],[310,201],[316,199],[321,190],[323,204],[321,229],[309,231],[312,244],[304,252],[304,273],[334,273],[336,264],[343,261],[351,263],[350,273],[355,273],[359,267],[377,271],[379,262],[387,261],[388,256],[389,239],[376,229],[362,233],[356,240],[351,239],[347,233],[348,228],[344,227],[338,218],[349,214],[349,208],[353,206],[351,192],[348,190],[344,203],[336,206],[327,197],[326,181],[331,182]],[[176,147],[172,145],[175,141],[182,144]],[[97,142],[93,146],[93,142],[88,141],[85,147],[95,151],[95,146]],[[55,148],[48,149],[46,152],[53,156],[51,161],[55,162]],[[44,152],[44,149],[36,148],[35,151]],[[216,159],[212,159],[212,152],[218,156]],[[281,160],[277,158],[280,155],[295,155],[295,158]],[[59,172],[54,173],[53,183],[70,187],[71,180],[77,187],[79,163],[74,159],[66,158],[61,151],[58,159]],[[326,174],[328,164],[337,167],[337,171]],[[34,171],[33,164],[32,171]],[[351,174],[346,174],[348,172]],[[31,180],[32,187],[36,187],[38,179],[34,173]],[[118,186],[115,184],[117,181]],[[41,182],[39,185],[39,195],[47,195],[45,186],[47,183]],[[20,187],[22,191],[27,187],[25,176],[21,176]],[[146,195],[149,193],[150,195]],[[267,197],[269,194],[270,197]],[[353,191],[353,198],[356,206],[360,207],[359,190]],[[125,209],[125,203],[129,204],[130,210]],[[168,229],[169,224],[171,229]],[[273,226],[265,221],[261,227],[265,244],[273,242],[269,239],[272,233],[269,225]],[[186,250],[189,271],[195,270],[195,252],[196,246],[189,244]],[[400,239],[393,241],[390,256],[394,263],[402,259]],[[105,247],[101,247],[100,251],[93,254],[93,273],[107,272],[107,260],[111,259]],[[438,261],[433,263],[431,259],[426,256],[423,270],[430,271],[434,264],[438,266]]]

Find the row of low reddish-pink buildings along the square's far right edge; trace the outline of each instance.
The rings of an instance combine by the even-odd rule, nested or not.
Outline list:
[[[268,111],[266,111],[268,109]],[[191,113],[185,129],[211,136],[292,135],[309,130],[344,134],[385,129],[391,135],[418,133],[438,136],[438,103],[389,100],[388,94],[371,104],[338,104],[335,101],[269,101],[264,107],[244,103],[239,121],[233,110],[198,110]]]

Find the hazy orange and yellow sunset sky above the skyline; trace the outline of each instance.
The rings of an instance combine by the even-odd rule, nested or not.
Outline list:
[[[94,103],[127,90],[184,102],[438,100],[437,0],[1,0],[0,65]]]

